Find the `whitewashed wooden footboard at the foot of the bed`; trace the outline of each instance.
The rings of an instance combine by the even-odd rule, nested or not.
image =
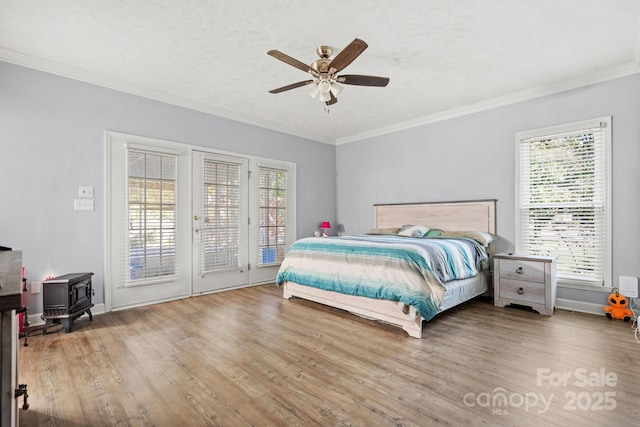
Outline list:
[[[282,284],[286,299],[299,297],[361,316],[400,326],[409,336],[422,338],[422,316],[415,307],[396,301],[377,300],[303,286],[293,282]]]

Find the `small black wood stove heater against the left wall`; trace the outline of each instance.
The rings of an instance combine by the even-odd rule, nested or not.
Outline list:
[[[59,323],[64,324],[65,332],[71,332],[73,321],[84,313],[93,320],[91,276],[93,273],[71,273],[42,282],[43,335],[49,326]]]

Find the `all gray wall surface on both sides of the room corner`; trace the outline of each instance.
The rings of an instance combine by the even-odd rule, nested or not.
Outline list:
[[[513,250],[515,133],[604,115],[617,283],[640,276],[640,75],[333,147],[0,62],[0,245],[23,249],[29,281],[96,273],[103,301],[103,132],[113,130],[295,162],[299,237],[322,219],[366,231],[374,203],[495,198],[498,250]],[[336,193],[317,191],[333,182]],[[73,211],[79,185],[94,187],[95,211]],[[27,304],[40,311],[40,296]]]

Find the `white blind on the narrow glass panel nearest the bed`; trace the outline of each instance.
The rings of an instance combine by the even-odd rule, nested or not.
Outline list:
[[[258,265],[280,264],[287,246],[286,170],[260,166]]]

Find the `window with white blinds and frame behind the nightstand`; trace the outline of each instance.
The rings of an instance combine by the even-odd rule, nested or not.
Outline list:
[[[516,135],[516,250],[557,259],[558,282],[611,284],[611,118]]]

